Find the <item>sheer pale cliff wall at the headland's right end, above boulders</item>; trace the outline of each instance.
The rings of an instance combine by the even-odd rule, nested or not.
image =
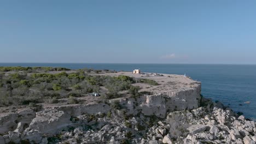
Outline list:
[[[136,115],[142,112],[146,116],[166,117],[166,112],[177,110],[192,110],[199,106],[201,85],[185,90],[170,91],[165,94],[142,95],[139,98],[120,99],[120,103],[129,109],[129,113]]]

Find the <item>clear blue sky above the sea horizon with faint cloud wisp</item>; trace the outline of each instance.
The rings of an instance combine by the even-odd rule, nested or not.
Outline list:
[[[0,62],[256,64],[256,1],[0,1]]]

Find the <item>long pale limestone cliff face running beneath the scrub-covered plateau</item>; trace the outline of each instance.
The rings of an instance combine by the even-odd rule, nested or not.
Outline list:
[[[110,105],[119,101],[129,115],[157,116],[165,118],[167,112],[196,109],[199,106],[201,84],[180,89],[165,91],[153,95],[142,95],[137,98],[119,98],[109,100],[109,103],[90,105],[66,105],[44,107],[42,111],[24,110],[19,113],[9,113],[0,118],[0,134],[4,135],[5,143],[30,140],[42,142],[42,135],[54,135],[62,129],[73,127],[72,117],[86,114],[108,113]]]

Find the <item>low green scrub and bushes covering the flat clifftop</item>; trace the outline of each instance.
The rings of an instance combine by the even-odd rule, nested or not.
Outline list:
[[[135,79],[125,75],[90,75],[114,72],[109,70],[79,69],[67,73],[69,70],[51,67],[0,67],[0,106],[56,104],[60,101],[78,104],[80,97],[92,92],[100,93],[101,87],[107,89],[101,93],[102,99],[122,97],[119,93],[121,91],[127,91],[131,97],[138,97],[141,95],[139,87],[132,86],[132,83],[158,85],[153,80]]]

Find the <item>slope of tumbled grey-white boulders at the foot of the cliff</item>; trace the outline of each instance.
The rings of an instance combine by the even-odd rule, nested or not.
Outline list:
[[[22,117],[23,121],[15,130],[0,136],[0,143],[255,143],[253,121],[209,99],[203,98],[200,106],[167,112],[165,118],[128,115],[125,109],[113,106],[106,114],[85,113],[77,117],[57,109],[39,111],[36,116],[33,110],[26,110],[16,116],[1,116],[1,122],[8,119],[6,125],[15,117]],[[25,120],[32,117],[35,118],[24,129]]]

